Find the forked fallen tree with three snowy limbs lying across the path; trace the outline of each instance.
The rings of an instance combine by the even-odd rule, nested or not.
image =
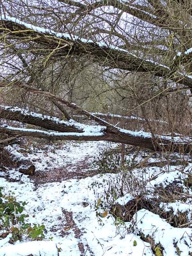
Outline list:
[[[25,85],[23,85],[26,87]],[[45,95],[48,98],[56,99],[65,105],[72,107],[79,113],[86,115],[89,119],[97,122],[98,125],[83,125],[75,122],[74,120],[69,120],[68,122],[63,122],[56,117],[46,116],[45,119],[41,119],[39,122],[39,114],[33,113],[25,114],[25,123],[36,125],[42,128],[47,128],[47,121],[49,120],[51,124],[51,129],[53,130],[52,124],[54,123],[54,131],[44,131],[39,129],[25,129],[19,127],[11,127],[8,125],[1,125],[0,132],[8,134],[13,138],[20,137],[35,137],[39,139],[48,140],[77,140],[77,141],[111,141],[118,143],[125,143],[133,146],[140,146],[153,151],[172,151],[172,152],[190,152],[192,141],[189,137],[170,137],[170,136],[159,136],[157,134],[151,134],[148,132],[134,132],[130,130],[125,130],[118,128],[112,124],[107,123],[105,120],[81,109],[74,103],[67,102],[66,100],[60,99],[59,97],[53,96],[51,93],[44,92],[42,90],[31,88],[33,92]],[[6,112],[4,112],[6,111]],[[22,116],[24,110],[5,107],[2,113],[10,113],[9,119],[20,120],[19,116]],[[16,112],[16,117],[14,113]],[[1,114],[0,114],[1,115]],[[54,122],[53,122],[54,120]],[[45,122],[45,124],[44,124]],[[58,132],[61,126],[64,125],[64,129],[67,127],[65,132]],[[73,129],[74,132],[71,132]],[[50,129],[49,129],[50,130]]]

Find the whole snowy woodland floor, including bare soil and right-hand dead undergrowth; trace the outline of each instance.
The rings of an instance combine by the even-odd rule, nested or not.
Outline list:
[[[0,171],[0,186],[28,202],[28,221],[44,224],[45,238],[23,237],[10,245],[8,235],[0,240],[0,255],[192,255],[192,165],[129,169],[126,178],[126,169],[101,174],[101,159],[115,172],[110,164],[119,158],[107,158],[102,152],[116,146],[106,142],[67,142],[44,149],[34,145],[28,150],[15,146],[31,159],[36,172],[25,176],[15,169]],[[133,159],[140,163],[147,154],[129,153],[127,165]],[[149,158],[150,163],[161,160]],[[122,205],[121,219],[111,214],[112,203]]]

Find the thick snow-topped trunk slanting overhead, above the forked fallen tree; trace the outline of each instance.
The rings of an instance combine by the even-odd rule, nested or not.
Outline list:
[[[103,43],[93,42],[72,34],[56,33],[54,31],[39,28],[32,24],[20,21],[13,17],[0,18],[0,33],[5,33],[10,39],[24,39],[25,42],[34,42],[44,47],[51,56],[64,57],[71,55],[89,55],[101,65],[110,66],[122,70],[148,72],[159,77],[166,77],[175,83],[180,83],[192,88],[192,79],[186,75],[175,73],[171,68],[150,60],[137,57],[128,50],[116,46],[107,46]],[[28,38],[28,39],[26,39]],[[37,51],[37,49],[34,49]],[[41,52],[41,48],[38,49]],[[33,48],[30,49],[33,51]]]

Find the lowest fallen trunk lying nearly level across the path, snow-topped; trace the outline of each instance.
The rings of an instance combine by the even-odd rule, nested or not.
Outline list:
[[[116,128],[117,131],[111,131],[103,126],[87,126],[83,133],[75,132],[47,132],[34,129],[15,128],[11,126],[0,126],[0,132],[7,133],[16,137],[35,137],[48,140],[76,140],[76,141],[111,141],[125,143],[133,146],[140,146],[153,151],[170,152],[191,152],[192,141],[190,138],[170,137],[170,136],[152,136],[148,132],[133,132]]]

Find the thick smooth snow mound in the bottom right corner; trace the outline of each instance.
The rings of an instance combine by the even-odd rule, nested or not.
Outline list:
[[[145,236],[150,236],[156,244],[160,244],[163,250],[163,256],[178,255],[176,246],[180,250],[181,256],[190,255],[191,228],[175,228],[159,215],[142,209],[133,216],[133,222],[136,223],[138,233],[142,232]],[[175,245],[171,246],[171,245]]]

